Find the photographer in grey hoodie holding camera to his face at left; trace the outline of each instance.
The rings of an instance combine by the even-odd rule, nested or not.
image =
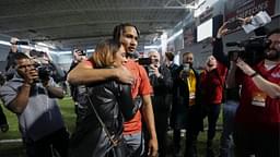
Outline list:
[[[18,116],[27,156],[67,157],[69,135],[56,99],[63,97],[63,90],[51,77],[39,77],[34,61],[24,53],[15,53],[14,63],[16,73],[0,88],[0,97]]]

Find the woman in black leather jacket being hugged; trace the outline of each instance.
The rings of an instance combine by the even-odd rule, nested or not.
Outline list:
[[[90,60],[88,62],[93,62],[94,69],[119,68],[127,62],[124,46],[113,39],[101,41]],[[72,135],[70,156],[129,156],[125,149],[122,123],[130,120],[137,110],[130,85],[113,78],[88,85],[86,90],[83,114]],[[118,146],[114,147],[113,142]]]

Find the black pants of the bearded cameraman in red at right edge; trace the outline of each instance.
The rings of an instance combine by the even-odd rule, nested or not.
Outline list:
[[[261,124],[258,124],[259,126]],[[268,129],[249,128],[249,124],[235,124],[233,133],[236,157],[280,157],[280,126]]]

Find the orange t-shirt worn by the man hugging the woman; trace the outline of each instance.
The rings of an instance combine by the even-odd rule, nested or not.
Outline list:
[[[93,67],[93,62],[89,60],[85,61],[85,63],[88,65]],[[149,77],[142,65],[129,59],[128,62],[126,63],[126,68],[133,74],[133,77],[135,77],[135,82],[131,85],[132,98],[136,98],[137,96],[150,95],[153,93]],[[125,122],[124,126],[125,126],[124,134],[133,134],[133,133],[141,132],[142,122],[141,122],[140,110],[137,111],[137,113],[130,121]]]

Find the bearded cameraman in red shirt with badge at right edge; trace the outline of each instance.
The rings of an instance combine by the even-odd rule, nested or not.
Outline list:
[[[237,156],[280,156],[280,29],[267,37],[271,44],[259,63],[250,67],[237,59],[242,71],[229,73],[235,73],[229,82],[242,85],[234,132]]]

